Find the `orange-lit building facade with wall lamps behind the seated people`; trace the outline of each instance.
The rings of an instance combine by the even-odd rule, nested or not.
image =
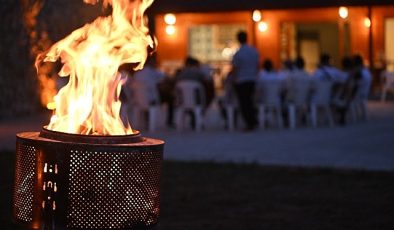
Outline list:
[[[166,12],[155,13],[154,17],[159,64],[164,69],[180,66],[188,55],[205,63],[226,63],[236,49],[236,31],[245,29],[261,61],[272,59],[277,68],[284,60],[301,55],[307,69],[313,71],[321,53],[330,54],[338,67],[344,56],[361,54],[373,69],[394,68],[394,2],[347,6],[346,15],[339,12],[339,6],[330,5],[244,7],[214,8],[216,11],[204,8],[201,12],[188,12],[187,7],[172,12],[163,7]],[[259,20],[253,20],[253,10],[260,12]],[[167,13],[173,13],[175,23],[165,22]]]

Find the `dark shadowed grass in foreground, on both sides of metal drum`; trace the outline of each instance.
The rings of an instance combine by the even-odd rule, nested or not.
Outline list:
[[[0,225],[11,222],[13,153],[0,152]],[[158,229],[394,229],[394,172],[163,164]]]

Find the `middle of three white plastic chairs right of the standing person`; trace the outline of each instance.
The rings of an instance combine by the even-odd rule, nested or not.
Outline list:
[[[307,115],[309,106],[309,96],[311,92],[311,80],[297,79],[291,81],[287,88],[287,109],[289,128],[295,129],[298,120],[298,114]]]

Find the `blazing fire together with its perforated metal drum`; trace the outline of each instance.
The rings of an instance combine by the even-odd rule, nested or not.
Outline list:
[[[96,0],[84,0],[95,4]],[[41,132],[17,134],[13,214],[33,229],[150,228],[158,221],[164,142],[120,116],[123,64],[141,69],[154,39],[144,17],[153,0],[112,7],[37,57],[60,60],[69,82]]]

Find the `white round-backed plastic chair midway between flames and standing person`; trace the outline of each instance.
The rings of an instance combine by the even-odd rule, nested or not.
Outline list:
[[[202,84],[197,81],[179,81],[176,83],[175,92],[177,130],[184,129],[185,115],[187,111],[190,111],[195,117],[195,130],[201,131],[204,123],[203,108],[205,104],[205,91]]]

